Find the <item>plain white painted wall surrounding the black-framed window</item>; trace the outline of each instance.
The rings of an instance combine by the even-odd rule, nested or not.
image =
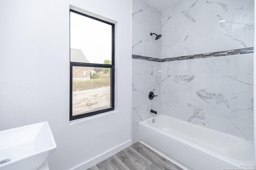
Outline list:
[[[71,124],[70,5],[116,22],[115,111]],[[86,169],[131,144],[131,0],[4,0],[0,21],[0,130],[48,121],[52,170]]]

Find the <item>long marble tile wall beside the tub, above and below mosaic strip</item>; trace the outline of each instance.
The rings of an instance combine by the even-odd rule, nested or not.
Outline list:
[[[161,39],[161,59],[253,47],[254,1],[182,0],[162,12]],[[253,140],[253,56],[161,63],[162,113]]]

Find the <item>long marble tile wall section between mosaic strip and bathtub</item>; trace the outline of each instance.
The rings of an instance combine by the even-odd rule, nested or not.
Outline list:
[[[161,111],[253,140],[253,53],[161,63]]]

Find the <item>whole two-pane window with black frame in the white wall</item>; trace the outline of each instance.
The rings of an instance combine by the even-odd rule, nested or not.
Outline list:
[[[70,120],[114,110],[114,26],[70,10]]]

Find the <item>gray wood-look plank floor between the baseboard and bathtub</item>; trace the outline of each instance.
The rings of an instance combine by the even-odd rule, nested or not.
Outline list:
[[[182,168],[137,142],[88,170],[182,170]]]

